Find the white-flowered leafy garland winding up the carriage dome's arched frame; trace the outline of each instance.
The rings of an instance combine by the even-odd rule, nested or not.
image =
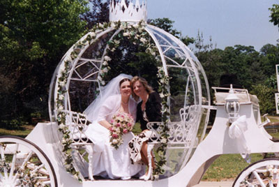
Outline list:
[[[94,27],[91,32],[86,36],[86,38],[79,43],[75,44],[73,47],[73,52],[71,52],[70,57],[63,59],[63,63],[61,63],[61,67],[59,68],[59,72],[57,75],[58,78],[58,96],[56,98],[56,108],[57,108],[57,123],[59,126],[59,130],[63,134],[62,137],[62,145],[63,145],[63,153],[66,156],[66,159],[64,161],[64,165],[66,167],[66,171],[70,174],[73,174],[73,176],[76,179],[79,179],[81,181],[79,175],[80,173],[75,170],[75,167],[73,165],[73,158],[71,154],[71,148],[70,144],[73,143],[73,140],[70,139],[70,130],[68,129],[68,126],[66,125],[66,113],[63,112],[64,110],[64,103],[65,103],[65,95],[66,95],[66,83],[68,78],[68,70],[70,70],[70,64],[73,60],[75,60],[82,49],[86,45],[91,45],[92,43],[96,42],[96,36],[98,33],[105,31],[109,28],[112,29],[121,29],[123,31],[123,34],[116,34],[113,38],[113,40],[110,40],[108,42],[108,47],[106,48],[106,54],[108,52],[114,52],[117,47],[119,47],[121,40],[123,40],[123,37],[128,38],[131,43],[133,44],[139,44],[144,47],[146,47],[146,53],[149,53],[153,55],[153,57],[158,57],[158,49],[156,45],[151,43],[151,36],[149,36],[149,33],[145,31],[146,22],[141,21],[135,24],[129,24],[128,22],[109,22],[109,23],[103,23],[103,24],[97,24],[96,27]],[[159,59],[156,58],[158,61]],[[98,75],[98,82],[101,86],[105,85],[104,77],[107,74],[107,72],[110,70],[109,62],[111,61],[111,58],[109,56],[103,57],[103,63],[100,66],[100,73]],[[166,163],[165,159],[165,153],[167,151],[167,137],[169,129],[167,128],[167,123],[169,119],[169,106],[167,105],[167,97],[169,96],[169,92],[167,90],[167,87],[169,85],[169,77],[167,77],[164,73],[164,70],[162,67],[158,68],[158,78],[159,80],[159,91],[160,91],[160,97],[162,98],[162,114],[163,114],[163,124],[162,124],[162,131],[160,132],[160,135],[162,137],[161,146],[157,149],[158,156],[160,157],[160,160],[156,162],[156,170],[153,170],[153,174],[155,179],[158,179],[159,174],[163,174],[165,172],[163,170],[163,166]]]

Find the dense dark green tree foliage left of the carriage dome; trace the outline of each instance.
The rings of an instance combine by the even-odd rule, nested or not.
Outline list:
[[[47,113],[47,90],[56,63],[84,31],[86,1],[0,2],[1,119]],[[9,94],[7,94],[9,93]],[[31,105],[29,105],[32,103]]]

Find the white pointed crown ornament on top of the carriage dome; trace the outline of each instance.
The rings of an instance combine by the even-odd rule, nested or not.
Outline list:
[[[140,20],[147,20],[146,0],[136,0],[135,4],[133,0],[130,0],[127,6],[125,0],[114,3],[114,0],[110,1],[110,22],[140,22]]]

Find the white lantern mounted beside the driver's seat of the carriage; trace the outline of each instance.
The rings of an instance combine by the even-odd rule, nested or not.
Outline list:
[[[233,123],[239,117],[239,97],[234,93],[234,89],[229,89],[229,95],[225,98],[225,111],[229,115],[229,123]]]

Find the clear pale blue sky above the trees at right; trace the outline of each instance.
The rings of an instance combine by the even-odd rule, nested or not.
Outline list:
[[[264,45],[277,44],[278,26],[269,22],[269,8],[279,0],[148,0],[149,19],[168,17],[183,36],[204,43],[210,36],[217,48],[252,45],[259,51]]]

